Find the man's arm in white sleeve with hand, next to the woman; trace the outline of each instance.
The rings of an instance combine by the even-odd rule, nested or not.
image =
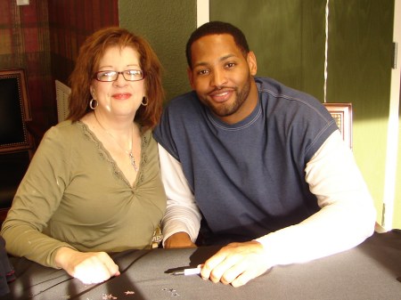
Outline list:
[[[195,203],[183,168],[159,144],[160,172],[168,204],[162,220],[163,247],[195,247],[201,213]]]

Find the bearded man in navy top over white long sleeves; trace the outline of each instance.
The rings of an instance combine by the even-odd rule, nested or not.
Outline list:
[[[164,247],[230,243],[201,277],[239,287],[372,235],[372,198],[319,101],[255,77],[255,54],[231,24],[196,29],[186,56],[194,91],[170,101],[154,133],[168,194]]]

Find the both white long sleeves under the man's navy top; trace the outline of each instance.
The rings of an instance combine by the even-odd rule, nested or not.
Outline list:
[[[186,232],[195,241],[201,226],[181,164],[159,145],[161,176],[168,196],[162,221],[164,239]],[[271,266],[307,262],[355,247],[372,235],[376,218],[372,196],[352,151],[335,131],[316,151],[305,169],[309,189],[321,210],[301,223],[256,239],[266,248]],[[336,184],[331,184],[336,182]],[[338,187],[341,191],[333,190]]]

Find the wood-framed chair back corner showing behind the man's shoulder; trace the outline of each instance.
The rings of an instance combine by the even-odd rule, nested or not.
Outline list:
[[[352,149],[352,104],[323,103],[339,126],[340,133],[350,149]]]

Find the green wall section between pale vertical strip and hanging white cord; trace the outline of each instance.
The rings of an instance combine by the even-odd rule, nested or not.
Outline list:
[[[322,0],[211,0],[210,20],[241,28],[257,56],[258,76],[323,101],[324,8]]]

